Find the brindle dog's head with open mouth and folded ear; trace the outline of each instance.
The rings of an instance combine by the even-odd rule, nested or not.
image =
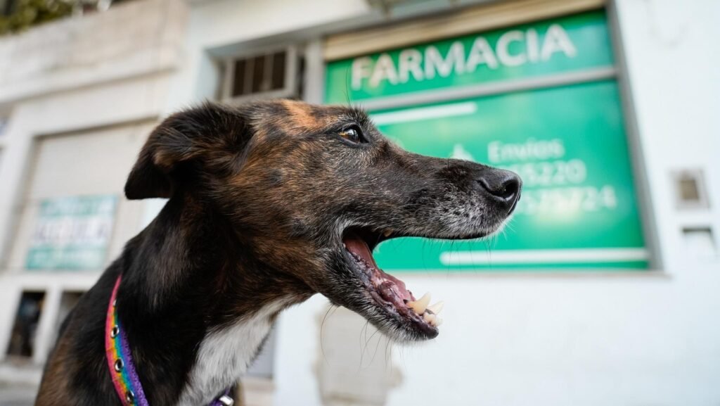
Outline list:
[[[191,193],[209,202],[274,276],[302,281],[398,340],[435,337],[438,319],[377,268],[374,247],[485,237],[520,191],[512,172],[400,149],[361,110],[288,100],[171,116],[125,185],[131,199]]]

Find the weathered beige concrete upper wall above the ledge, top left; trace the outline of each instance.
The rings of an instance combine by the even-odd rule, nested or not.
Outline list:
[[[0,106],[172,69],[185,26],[182,1],[145,0],[2,37]]]

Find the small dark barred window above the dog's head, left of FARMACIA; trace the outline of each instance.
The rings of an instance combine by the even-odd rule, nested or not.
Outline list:
[[[230,58],[223,66],[222,100],[297,97],[298,66],[292,47]]]

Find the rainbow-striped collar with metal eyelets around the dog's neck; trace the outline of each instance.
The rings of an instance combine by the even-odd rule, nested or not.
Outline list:
[[[148,399],[143,392],[143,385],[140,384],[140,378],[135,371],[135,364],[132,363],[132,353],[130,353],[130,345],[127,341],[127,335],[122,330],[120,319],[117,317],[117,309],[115,304],[117,296],[117,288],[120,287],[121,277],[117,277],[115,286],[112,288],[110,303],[107,306],[107,317],[105,318],[105,358],[107,358],[107,367],[112,377],[112,384],[115,387],[117,396],[123,406],[149,406]],[[209,406],[232,406],[233,399],[228,396],[230,388],[225,389],[216,400],[212,401]]]

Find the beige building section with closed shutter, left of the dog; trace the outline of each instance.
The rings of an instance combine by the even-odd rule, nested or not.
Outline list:
[[[0,380],[39,381],[63,317],[147,221],[122,188],[186,12],[137,1],[0,38]]]

